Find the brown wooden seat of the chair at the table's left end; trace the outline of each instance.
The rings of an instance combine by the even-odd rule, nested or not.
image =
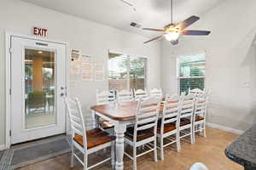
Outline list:
[[[106,144],[115,140],[114,136],[109,135],[108,133],[102,131],[100,128],[91,129],[86,131],[86,138],[87,138],[87,149],[94,148],[101,144]],[[84,147],[83,144],[83,136],[77,134],[73,137],[74,141]]]

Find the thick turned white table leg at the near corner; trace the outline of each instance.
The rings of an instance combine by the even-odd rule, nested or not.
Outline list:
[[[116,162],[115,162],[115,169],[116,170],[123,170],[124,169],[124,152],[125,152],[125,131],[126,125],[124,124],[117,124],[114,126],[114,132],[116,134],[116,146],[115,146],[115,154],[116,154]]]

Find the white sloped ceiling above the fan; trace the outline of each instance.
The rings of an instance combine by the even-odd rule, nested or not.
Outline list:
[[[86,20],[131,31],[145,37],[160,33],[142,31],[131,27],[137,22],[143,27],[163,28],[170,23],[170,0],[126,0],[133,3],[136,11],[120,0],[22,0],[27,3],[71,14]],[[223,0],[174,0],[174,22],[185,20],[191,15],[204,14]],[[200,20],[198,21],[200,22]]]

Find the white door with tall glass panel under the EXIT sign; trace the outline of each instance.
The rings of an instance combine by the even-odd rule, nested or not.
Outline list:
[[[66,45],[11,37],[11,144],[66,132]]]

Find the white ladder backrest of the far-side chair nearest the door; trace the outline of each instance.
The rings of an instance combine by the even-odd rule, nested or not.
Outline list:
[[[115,103],[115,97],[113,93],[108,90],[99,91],[96,90],[96,104],[97,105],[107,105]]]

